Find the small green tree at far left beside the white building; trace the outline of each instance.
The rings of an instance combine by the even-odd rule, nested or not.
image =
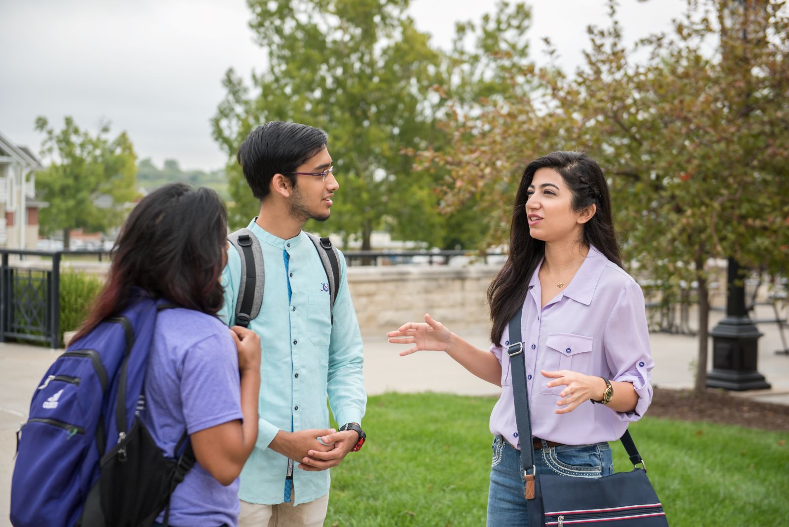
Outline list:
[[[82,228],[104,232],[120,225],[136,192],[136,155],[125,132],[110,139],[110,125],[95,136],[66,117],[63,129],[36,118],[36,130],[46,134],[42,155],[47,168],[36,175],[36,188],[49,206],[41,210],[44,233],[63,231],[69,249],[69,231]]]

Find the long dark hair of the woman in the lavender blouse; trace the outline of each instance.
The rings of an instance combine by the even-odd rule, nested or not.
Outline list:
[[[535,159],[523,171],[521,184],[515,196],[510,226],[510,254],[499,274],[488,287],[488,304],[491,307],[491,342],[498,343],[504,328],[523,305],[529,281],[537,264],[545,256],[545,242],[529,235],[526,200],[534,173],[540,168],[552,168],[561,174],[565,185],[573,193],[572,207],[580,212],[592,204],[597,211],[583,226],[583,242],[594,245],[608,260],[622,266],[619,245],[611,219],[611,194],[600,165],[582,152],[556,151]]]

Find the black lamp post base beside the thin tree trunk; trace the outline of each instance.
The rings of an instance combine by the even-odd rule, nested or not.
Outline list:
[[[745,305],[745,284],[737,260],[729,258],[726,316],[709,332],[712,335],[712,371],[707,386],[726,390],[764,390],[770,387],[757,372],[761,333],[750,320]]]

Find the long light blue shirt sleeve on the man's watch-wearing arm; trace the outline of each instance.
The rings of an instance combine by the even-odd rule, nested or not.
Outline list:
[[[348,290],[345,260],[341,257],[340,261],[342,273],[332,311],[334,323],[329,342],[327,392],[337,424],[342,426],[347,423],[361,424],[367,406],[367,393],[362,375],[364,355],[359,323]]]

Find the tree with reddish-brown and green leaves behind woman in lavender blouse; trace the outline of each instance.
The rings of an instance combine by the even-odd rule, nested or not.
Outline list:
[[[789,261],[789,17],[779,0],[688,0],[673,32],[638,43],[648,53],[634,62],[609,9],[609,28],[589,28],[585,67],[540,69],[533,94],[462,121],[487,133],[456,133],[453,158],[434,160],[453,170],[455,206],[476,183],[478,211],[503,241],[495,203],[511,196],[523,158],[589,151],[608,175],[625,260],[666,293],[696,285],[701,390],[711,262],[785,273]]]

